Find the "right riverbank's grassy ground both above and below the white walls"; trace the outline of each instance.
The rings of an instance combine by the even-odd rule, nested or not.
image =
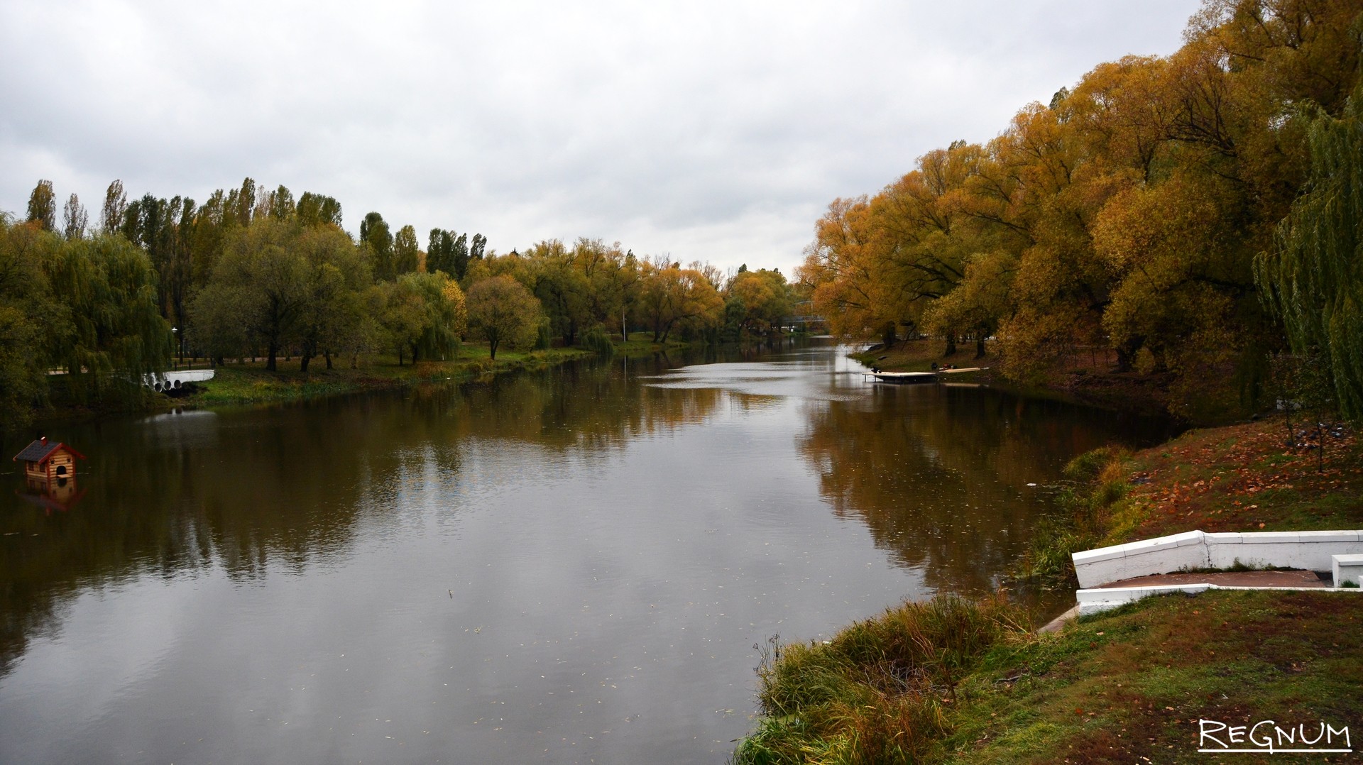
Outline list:
[[[1075,458],[1051,490],[1055,511],[1039,526],[1024,573],[1065,586],[1077,550],[1193,529],[1363,528],[1363,447],[1352,430],[1330,428],[1322,439],[1278,416],[1187,431],[1137,453],[1100,449]],[[1156,597],[1054,635],[1032,633],[1026,615],[992,601],[970,608],[969,620],[999,626],[964,655],[953,631],[919,630],[916,640],[931,646],[925,661],[857,637],[874,633],[872,623],[913,634],[900,611],[827,645],[789,646],[776,670],[765,665],[767,716],[737,762],[819,762],[849,751],[848,761],[889,762],[1182,761],[1198,757],[1199,719],[1323,720],[1363,731],[1363,597],[1355,593]],[[950,682],[936,657],[951,657]],[[823,665],[840,670],[807,670]],[[786,675],[804,675],[815,690],[776,694],[793,682]],[[1292,757],[1273,761],[1325,761]]]

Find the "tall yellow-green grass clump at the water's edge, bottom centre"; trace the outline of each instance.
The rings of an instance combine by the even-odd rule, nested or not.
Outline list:
[[[943,704],[977,659],[1022,634],[1002,597],[938,595],[857,622],[829,642],[780,646],[758,667],[763,719],[736,765],[913,762],[950,730]]]

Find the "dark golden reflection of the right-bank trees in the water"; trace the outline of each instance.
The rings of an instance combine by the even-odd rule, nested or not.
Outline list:
[[[1134,423],[990,389],[876,386],[861,401],[811,404],[800,453],[840,517],[921,567],[936,589],[984,589],[1022,551],[1043,498],[1075,454],[1145,440]]]

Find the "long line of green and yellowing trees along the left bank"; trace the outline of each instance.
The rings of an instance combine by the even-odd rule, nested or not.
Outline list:
[[[536,243],[499,255],[481,233],[397,233],[382,214],[342,228],[327,195],[297,199],[252,179],[196,205],[105,192],[99,220],[41,180],[26,217],[0,215],[0,408],[26,420],[49,372],[71,374],[80,401],[135,398],[127,380],[172,357],[215,364],[296,359],[330,370],[395,355],[398,364],[453,359],[461,342],[502,348],[611,348],[645,331],[654,342],[769,333],[797,296],[776,270],[724,274],[619,243]]]

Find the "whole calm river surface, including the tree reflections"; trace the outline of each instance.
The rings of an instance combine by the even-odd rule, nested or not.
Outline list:
[[[50,428],[89,461],[0,491],[0,762],[722,762],[755,642],[991,588],[1029,483],[1163,435],[669,367]]]

